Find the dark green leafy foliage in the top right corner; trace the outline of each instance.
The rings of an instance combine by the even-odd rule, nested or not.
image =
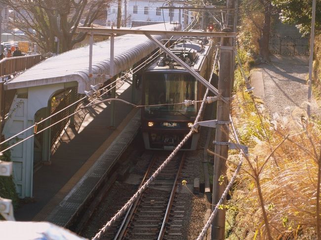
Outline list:
[[[296,25],[302,34],[310,33],[312,0],[272,0],[272,4],[281,10],[282,22]],[[315,28],[321,29],[321,0],[317,0]]]

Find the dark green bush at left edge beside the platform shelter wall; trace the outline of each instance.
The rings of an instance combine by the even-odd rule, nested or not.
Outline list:
[[[6,146],[3,146],[6,147]],[[3,156],[0,158],[1,161],[10,162],[11,152],[5,151]],[[13,182],[12,176],[0,176],[0,197],[5,199],[11,199],[12,205],[16,208],[19,204],[19,197],[16,192],[16,186]]]

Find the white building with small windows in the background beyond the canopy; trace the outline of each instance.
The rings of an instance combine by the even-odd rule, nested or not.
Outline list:
[[[183,6],[185,0],[173,1],[172,6]],[[169,3],[170,4],[170,3]],[[189,12],[179,9],[161,9],[162,6],[170,6],[164,0],[121,0],[121,26],[131,27],[131,22],[159,21],[181,22],[184,25],[191,22]],[[118,0],[114,0],[107,9],[106,26],[117,26]]]

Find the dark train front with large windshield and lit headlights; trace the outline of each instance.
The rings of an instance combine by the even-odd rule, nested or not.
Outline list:
[[[142,134],[146,149],[172,150],[190,131],[197,106],[184,100],[198,99],[198,82],[183,69],[150,68],[143,76]],[[194,134],[182,150],[195,150]]]

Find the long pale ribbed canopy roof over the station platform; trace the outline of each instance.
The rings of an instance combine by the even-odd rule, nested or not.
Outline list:
[[[180,30],[180,25],[176,30]],[[141,30],[174,30],[169,23],[137,27]],[[165,36],[155,36],[158,40]],[[125,34],[115,37],[114,73],[130,68],[157,48],[145,35]],[[89,89],[89,45],[51,57],[5,83],[6,89],[34,87],[61,82],[78,82],[78,92]],[[110,39],[93,44],[92,73],[110,74]]]

